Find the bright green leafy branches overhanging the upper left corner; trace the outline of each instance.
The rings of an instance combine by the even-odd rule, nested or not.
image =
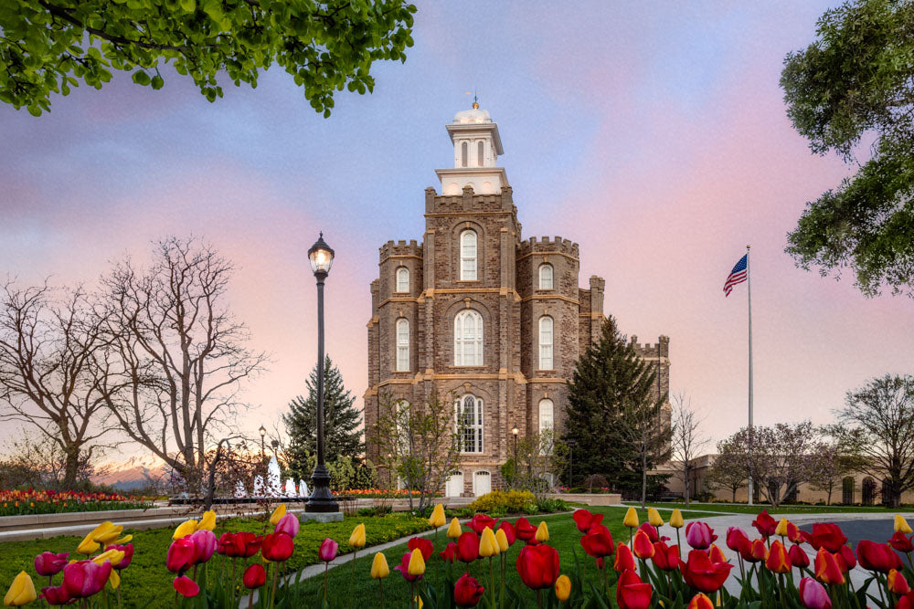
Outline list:
[[[101,89],[112,69],[161,89],[171,63],[213,101],[219,72],[257,86],[274,62],[314,110],[334,92],[371,91],[376,60],[406,60],[416,8],[402,0],[10,0],[0,3],[0,100],[38,116],[80,80]]]

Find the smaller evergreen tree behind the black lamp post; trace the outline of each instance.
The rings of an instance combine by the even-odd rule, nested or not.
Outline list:
[[[289,434],[287,461],[292,474],[308,478],[312,471],[307,465],[309,455],[317,452],[317,366],[305,382],[307,399],[297,396],[289,404],[282,422]],[[324,359],[324,462],[339,457],[360,460],[365,444],[362,442],[360,413],[353,405],[356,397],[343,385],[343,375],[327,356]]]

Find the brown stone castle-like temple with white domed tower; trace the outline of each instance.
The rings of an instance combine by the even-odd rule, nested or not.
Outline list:
[[[454,166],[436,170],[441,194],[425,190],[424,238],[380,247],[365,425],[367,457],[377,458],[379,398],[421,404],[434,392],[455,394],[469,425],[460,467],[443,489],[454,497],[503,486],[513,427],[521,437],[554,426],[561,433],[575,362],[600,336],[605,281],[579,286],[577,243],[521,238],[486,110],[458,112],[447,131]],[[657,366],[657,392],[668,396],[669,339],[635,347]]]

